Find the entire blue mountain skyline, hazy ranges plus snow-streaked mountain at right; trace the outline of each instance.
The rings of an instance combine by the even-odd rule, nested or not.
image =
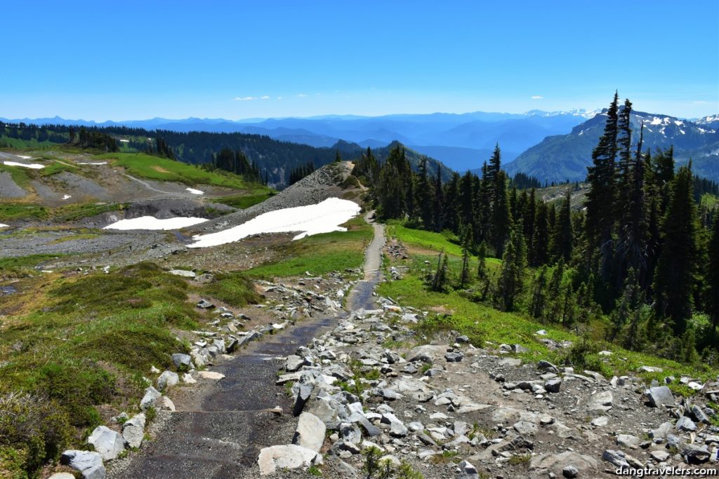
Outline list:
[[[208,131],[269,136],[280,141],[312,147],[349,150],[380,149],[400,141],[419,154],[437,159],[458,172],[478,171],[489,159],[495,144],[503,153],[510,175],[518,172],[542,182],[584,180],[592,149],[606,120],[603,111],[541,111],[526,113],[429,113],[386,116],[326,115],[310,118],[151,118],[133,121],[22,118],[2,121],[34,124],[130,126],[178,132]],[[695,172],[719,181],[719,115],[694,120],[656,113],[633,112],[632,126],[638,134],[644,121],[644,148],[674,145],[677,162],[693,159]],[[636,139],[635,139],[636,141]],[[339,143],[338,143],[339,142]],[[347,144],[344,144],[346,142]],[[416,159],[413,157],[413,160]]]

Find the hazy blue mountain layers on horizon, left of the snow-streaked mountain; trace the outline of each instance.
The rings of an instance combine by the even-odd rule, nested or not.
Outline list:
[[[504,162],[539,143],[546,136],[567,133],[572,127],[591,118],[596,111],[540,111],[527,113],[430,113],[387,116],[315,116],[311,118],[186,118],[168,120],[151,118],[132,121],[68,120],[55,118],[21,118],[2,121],[35,124],[87,126],[133,126],[171,131],[209,131],[248,133],[270,136],[280,141],[334,147],[337,141],[351,141],[360,147],[385,147],[392,141],[417,152],[439,159],[448,167],[463,172],[476,169],[489,159],[495,144],[503,151]]]

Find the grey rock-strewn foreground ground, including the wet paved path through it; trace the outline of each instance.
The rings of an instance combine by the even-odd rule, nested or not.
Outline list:
[[[386,252],[402,254],[392,242]],[[142,400],[173,412],[160,413],[153,440],[114,462],[109,477],[597,478],[718,467],[719,428],[706,405],[719,383],[666,378],[699,391],[681,399],[632,376],[523,363],[518,345],[475,347],[456,332],[426,343],[415,330],[426,312],[372,296],[343,308],[362,283],[346,274],[262,282],[267,302],[247,313],[198,301],[219,315],[214,330],[191,338],[178,371],[155,371]],[[260,357],[264,373],[249,366]],[[182,381],[199,383],[173,386]],[[195,417],[208,415],[216,419]],[[141,419],[114,434],[130,443]],[[93,437],[122,442],[104,429]],[[83,467],[73,454],[65,461]]]

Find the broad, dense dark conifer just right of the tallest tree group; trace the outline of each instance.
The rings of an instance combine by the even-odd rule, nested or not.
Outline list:
[[[661,220],[661,255],[654,274],[656,314],[672,320],[674,335],[687,330],[692,314],[696,269],[696,205],[691,162],[672,182],[667,213]]]

